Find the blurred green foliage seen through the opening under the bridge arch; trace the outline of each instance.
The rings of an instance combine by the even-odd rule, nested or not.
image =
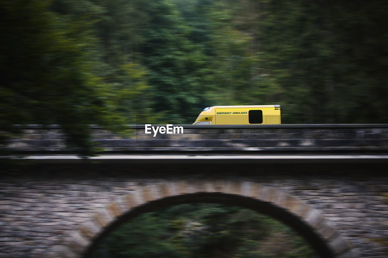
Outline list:
[[[279,242],[282,248],[279,248]],[[236,206],[195,203],[148,212],[107,236],[91,257],[312,257],[289,227]]]

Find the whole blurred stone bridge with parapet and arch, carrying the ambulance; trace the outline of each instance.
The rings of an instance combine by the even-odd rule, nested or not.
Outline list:
[[[387,257],[388,125],[133,127],[95,128],[89,160],[55,126],[10,140],[24,159],[0,181],[0,256],[88,257],[140,213],[211,202],[275,217],[321,257]]]

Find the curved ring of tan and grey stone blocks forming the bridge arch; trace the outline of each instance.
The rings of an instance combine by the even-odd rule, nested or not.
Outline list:
[[[273,187],[223,179],[163,182],[121,196],[74,230],[66,241],[62,257],[87,256],[103,236],[140,213],[162,206],[194,202],[226,203],[251,208],[278,218],[299,231],[324,258],[359,257],[340,232],[312,205]]]

